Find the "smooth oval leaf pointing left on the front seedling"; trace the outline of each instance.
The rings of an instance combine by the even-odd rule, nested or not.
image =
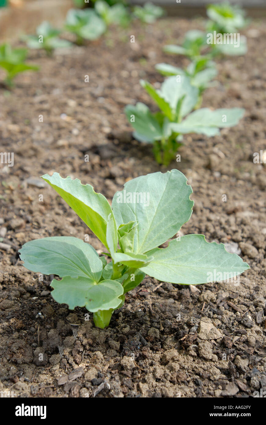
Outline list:
[[[98,282],[102,276],[102,261],[95,249],[81,239],[55,236],[26,242],[20,248],[24,267],[44,275],[61,278],[78,276]]]

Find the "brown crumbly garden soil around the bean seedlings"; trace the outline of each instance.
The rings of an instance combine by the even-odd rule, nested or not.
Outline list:
[[[253,153],[266,149],[264,21],[246,30],[245,57],[219,61],[218,85],[204,94],[203,106],[244,107],[244,119],[220,136],[185,136],[181,162],[169,167],[180,169],[194,191],[182,234],[203,233],[209,242],[237,248],[251,267],[239,286],[191,288],[147,277],[102,330],[92,315],[84,320],[85,309],[57,304],[52,277],[39,281],[18,258],[22,244],[45,236],[83,239],[88,233],[102,250],[51,187],[33,186],[28,178],[57,171],[92,184],[111,201],[125,181],[165,171],[150,146],[131,139],[123,108],[150,105],[139,78],[161,82],[158,62],[184,66],[186,59],[162,47],[200,27],[200,20],[163,19],[109,31],[52,58],[31,52],[40,72],[17,77],[10,94],[0,92],[0,150],[14,152],[14,167],[0,164],[0,237],[10,245],[0,249],[1,391],[15,397],[248,397],[266,390],[266,167],[253,163]]]

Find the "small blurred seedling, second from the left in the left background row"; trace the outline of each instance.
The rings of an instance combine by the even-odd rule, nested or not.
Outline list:
[[[56,48],[70,47],[72,43],[68,40],[59,38],[60,30],[52,28],[47,21],[42,22],[36,28],[36,35],[26,35],[23,39],[27,42],[29,48],[44,49],[50,55]]]

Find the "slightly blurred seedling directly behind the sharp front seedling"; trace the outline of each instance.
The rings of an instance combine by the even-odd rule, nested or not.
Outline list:
[[[147,105],[138,102],[136,106],[127,105],[125,113],[135,129],[133,136],[140,142],[152,143],[156,161],[166,166],[175,158],[183,134],[215,136],[219,128],[238,124],[245,112],[243,108],[201,108],[191,112],[198,104],[199,90],[184,75],[166,78],[160,90],[147,81],[140,83],[160,112],[152,113]]]

